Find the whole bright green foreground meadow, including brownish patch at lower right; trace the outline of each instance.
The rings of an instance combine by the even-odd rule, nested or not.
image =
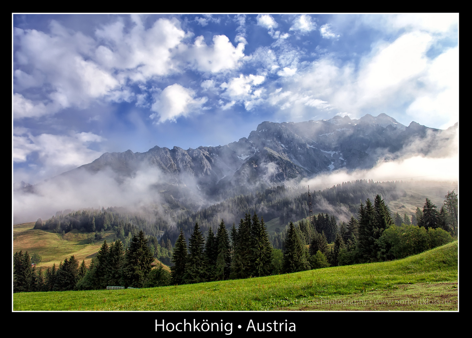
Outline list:
[[[252,279],[146,289],[16,293],[13,310],[455,311],[457,247],[453,242],[397,261]]]

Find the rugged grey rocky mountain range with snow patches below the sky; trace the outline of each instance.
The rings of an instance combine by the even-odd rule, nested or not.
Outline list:
[[[336,169],[372,168],[408,152],[428,155],[449,140],[447,130],[411,122],[408,127],[386,114],[360,119],[335,116],[306,122],[262,122],[249,136],[220,146],[184,150],[155,146],[147,152],[106,152],[92,163],[68,171],[111,169],[115,179],[134,177],[143,168],[159,169],[167,185],[194,185],[207,194],[229,187],[279,184]]]

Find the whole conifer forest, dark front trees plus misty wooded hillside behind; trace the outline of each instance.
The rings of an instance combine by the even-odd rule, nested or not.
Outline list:
[[[115,240],[104,241],[89,266],[71,256],[58,267],[36,269],[28,252],[15,253],[14,292],[158,287],[382,262],[421,253],[458,235],[454,190],[447,192],[439,210],[427,198],[411,216],[392,214],[381,194],[372,196],[373,202],[368,197],[354,204],[357,196],[379,186],[389,197],[396,194],[395,183],[390,184],[394,189],[358,181],[313,193],[315,203],[336,199],[339,210],[340,203],[350,205],[349,210],[355,206],[347,222],[322,212],[310,219],[306,194],[287,194],[284,187],[237,196],[190,215],[181,213],[177,236],[164,219],[150,222],[121,208],[58,212],[45,222],[38,220],[34,228],[63,233],[82,229],[90,232],[90,243],[100,240],[105,230],[114,230]],[[214,225],[215,215],[230,204],[231,210],[254,211],[245,212],[237,225],[222,219]],[[264,222],[270,212],[288,221],[271,236]],[[171,272],[162,264],[154,267],[154,258],[169,265]]]

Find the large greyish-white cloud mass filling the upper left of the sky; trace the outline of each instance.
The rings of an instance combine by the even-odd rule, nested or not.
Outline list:
[[[177,19],[158,19],[145,29],[139,16],[132,18],[128,32],[118,20],[97,29],[96,40],[55,21],[49,33],[15,28],[14,117],[87,108],[96,100],[131,102],[135,94],[127,81],[180,71],[173,52],[185,32]],[[35,89],[35,96],[28,89]]]

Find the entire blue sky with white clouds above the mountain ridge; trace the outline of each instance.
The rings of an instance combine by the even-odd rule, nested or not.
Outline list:
[[[13,15],[14,181],[262,121],[459,118],[458,14]]]

